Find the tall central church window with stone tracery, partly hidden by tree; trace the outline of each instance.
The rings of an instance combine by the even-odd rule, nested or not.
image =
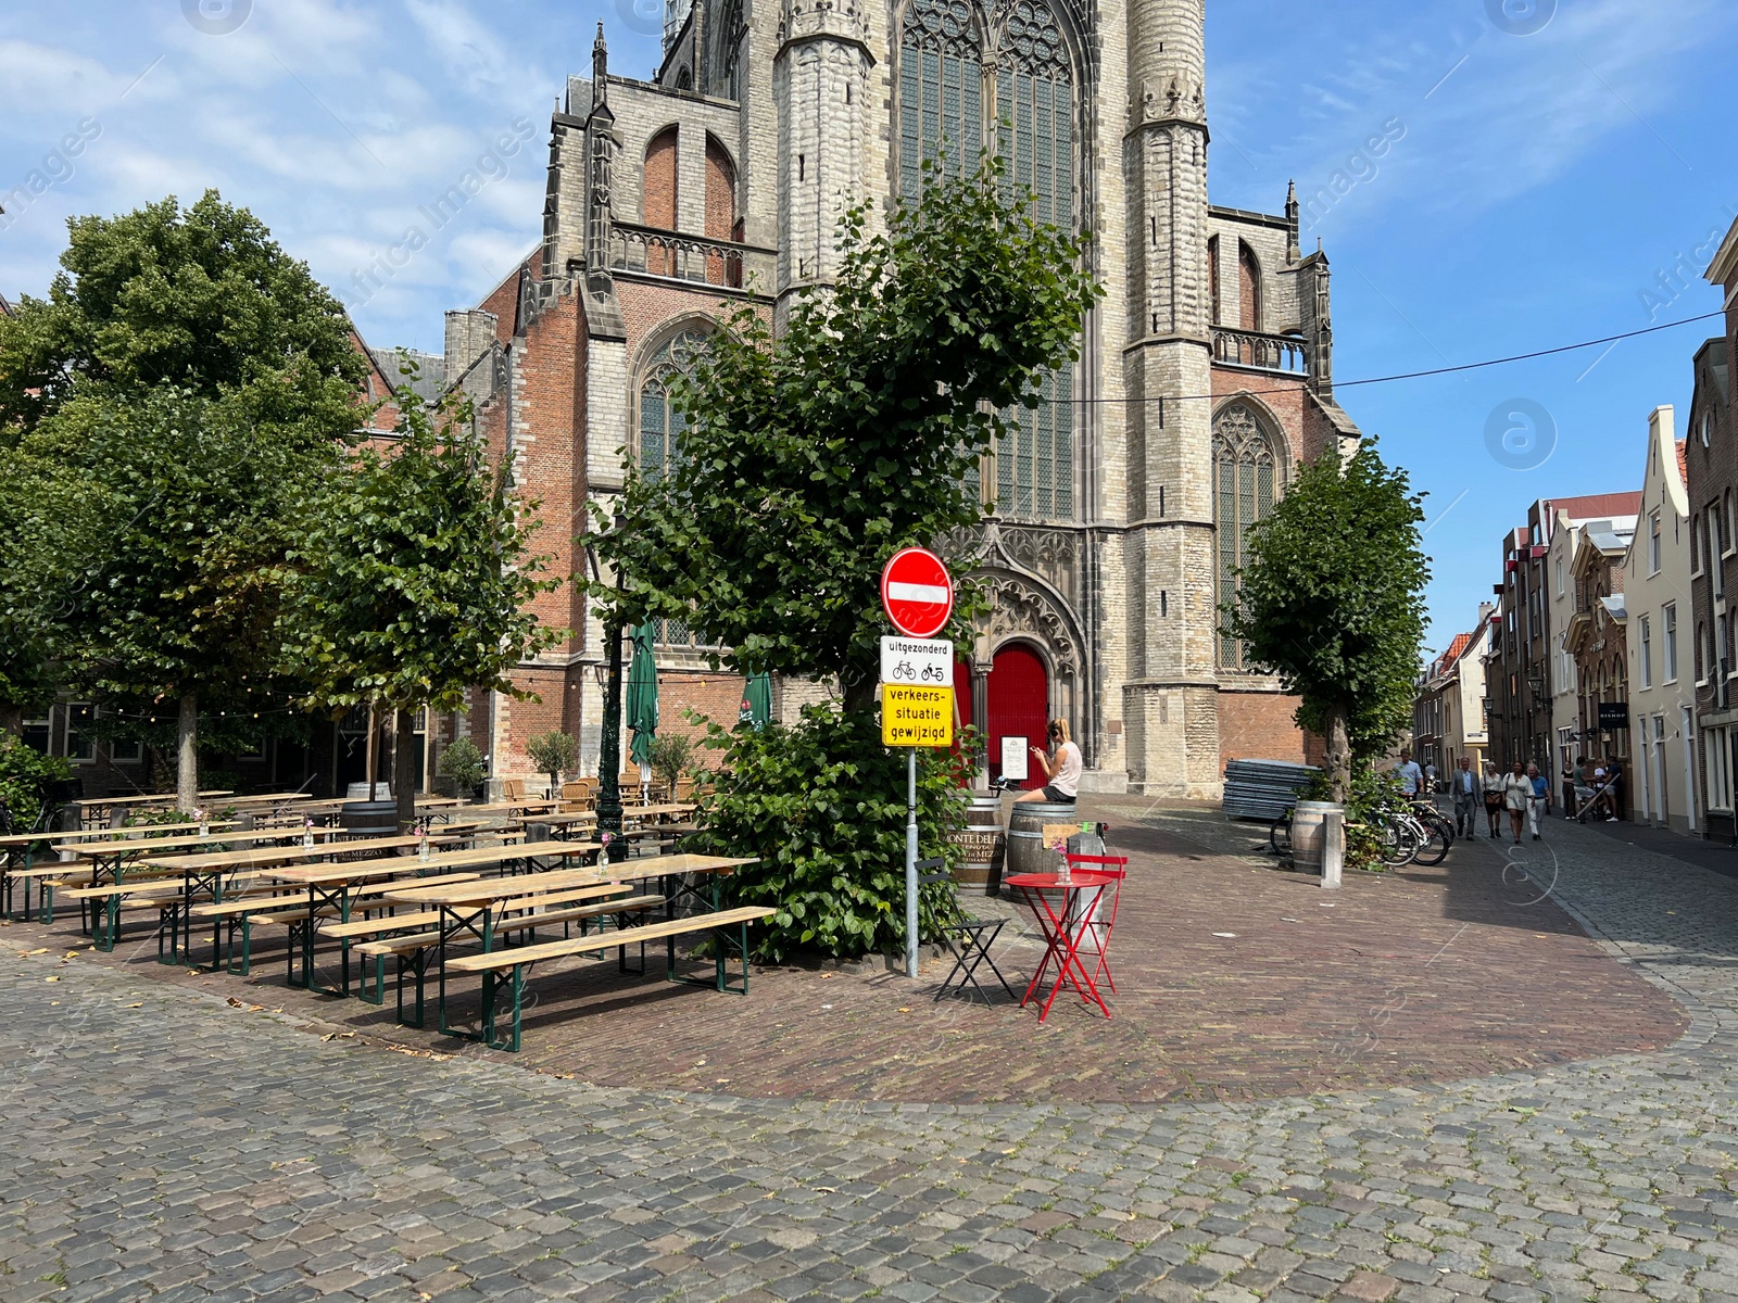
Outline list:
[[[972,0],[909,0],[899,89],[900,193],[907,200],[923,191],[925,160],[942,155],[956,172],[977,167],[978,153],[992,148],[1008,163],[1010,200],[1032,195],[1034,217],[1074,229],[1074,73],[1043,0],[1013,0],[989,26]],[[1010,408],[1003,417],[1008,433],[984,467],[996,511],[1072,521],[1072,370],[1043,380],[1036,410]]]

